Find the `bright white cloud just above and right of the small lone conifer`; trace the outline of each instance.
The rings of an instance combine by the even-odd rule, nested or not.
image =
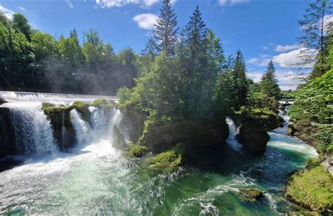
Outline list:
[[[299,48],[297,50],[292,50],[288,53],[281,53],[280,55],[273,56],[273,61],[278,63],[280,67],[313,67],[313,63],[303,64],[302,57],[308,55],[311,58],[315,58],[318,51],[314,49]]]

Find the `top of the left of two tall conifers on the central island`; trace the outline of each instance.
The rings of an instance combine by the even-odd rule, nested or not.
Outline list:
[[[157,19],[154,31],[155,41],[160,41],[157,48],[160,52],[165,52],[168,56],[174,55],[174,46],[177,41],[177,16],[171,9],[171,0],[164,0],[160,9],[161,14]]]

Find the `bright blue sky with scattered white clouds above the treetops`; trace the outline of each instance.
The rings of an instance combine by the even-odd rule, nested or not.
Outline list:
[[[299,80],[298,20],[306,0],[171,0],[178,26],[183,28],[199,6],[202,18],[221,37],[225,55],[240,49],[247,76],[258,82],[269,60],[275,62],[282,90],[295,89]],[[34,29],[58,38],[77,29],[97,29],[115,51],[130,46],[140,53],[152,36],[162,0],[0,0],[0,11],[11,18],[22,13]]]

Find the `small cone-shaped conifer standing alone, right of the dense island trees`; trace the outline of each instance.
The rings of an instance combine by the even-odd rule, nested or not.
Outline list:
[[[261,76],[259,89],[262,93],[268,95],[268,97],[275,97],[277,100],[280,97],[281,89],[278,85],[278,79],[276,79],[275,67],[272,60],[268,63],[266,72]]]

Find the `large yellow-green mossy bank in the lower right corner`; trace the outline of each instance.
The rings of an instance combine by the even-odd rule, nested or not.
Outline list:
[[[286,198],[315,212],[332,212],[333,177],[320,161],[310,161],[304,170],[290,177]]]

